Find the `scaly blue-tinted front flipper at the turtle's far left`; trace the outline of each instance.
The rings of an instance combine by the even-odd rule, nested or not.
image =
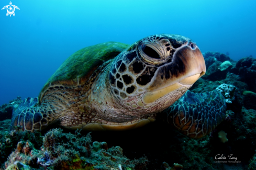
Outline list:
[[[15,109],[12,115],[12,129],[20,126],[21,130],[34,131],[40,130],[42,124],[46,124],[47,120],[43,119],[40,107],[37,107],[38,98],[28,97]]]

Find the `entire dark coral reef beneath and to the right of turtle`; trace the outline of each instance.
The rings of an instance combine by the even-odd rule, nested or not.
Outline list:
[[[203,93],[218,88],[231,101],[226,119],[210,135],[187,138],[167,126],[161,114],[154,123],[136,130],[87,135],[60,129],[9,131],[10,120],[6,119],[0,122],[1,169],[129,170],[145,169],[146,165],[148,169],[256,169],[256,59],[236,62],[218,52],[204,56],[207,75],[190,90]],[[231,65],[221,71],[225,61]],[[228,134],[228,142],[219,140],[220,131]],[[216,163],[216,155],[225,156],[226,161],[232,155],[240,163]]]

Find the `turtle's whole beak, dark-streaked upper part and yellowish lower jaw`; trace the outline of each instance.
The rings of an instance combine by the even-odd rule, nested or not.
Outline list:
[[[191,42],[184,44],[173,54],[170,63],[160,66],[154,81],[142,97],[143,103],[150,104],[177,90],[186,91],[206,72],[205,60],[199,48]]]

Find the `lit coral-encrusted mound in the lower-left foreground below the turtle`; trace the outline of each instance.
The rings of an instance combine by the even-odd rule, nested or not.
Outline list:
[[[63,133],[61,129],[52,129],[44,137],[35,133],[39,138],[38,145],[31,139],[24,138],[30,132],[12,131],[10,138],[20,134],[15,151],[5,162],[6,169],[144,169],[147,157],[133,161],[123,156],[119,146],[108,149],[106,142],[93,142],[90,133],[86,136],[77,130],[75,134]],[[11,140],[12,140],[11,139]]]

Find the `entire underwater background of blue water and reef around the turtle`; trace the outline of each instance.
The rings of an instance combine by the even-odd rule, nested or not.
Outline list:
[[[0,7],[9,3],[1,0]],[[256,169],[256,1],[12,4],[20,8],[15,16],[0,10],[0,170]],[[211,134],[187,138],[160,117],[122,132],[9,130],[12,109],[21,99],[37,97],[77,50],[107,41],[132,44],[158,33],[191,38],[202,51],[206,74],[190,90],[217,89],[227,101],[226,118]],[[218,162],[228,155],[238,162]]]

